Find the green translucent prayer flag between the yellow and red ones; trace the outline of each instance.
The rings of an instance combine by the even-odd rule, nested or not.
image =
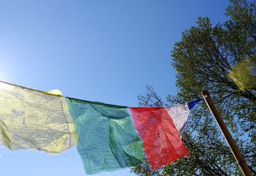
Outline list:
[[[141,163],[141,140],[126,107],[72,98],[67,102],[78,134],[77,150],[86,173]]]

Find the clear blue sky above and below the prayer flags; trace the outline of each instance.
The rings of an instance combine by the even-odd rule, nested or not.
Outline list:
[[[223,22],[228,1],[0,1],[0,80],[65,96],[138,105],[152,85],[175,94],[170,50],[196,17]],[[1,175],[86,175],[59,156],[0,148]],[[99,175],[129,175],[129,169]]]

